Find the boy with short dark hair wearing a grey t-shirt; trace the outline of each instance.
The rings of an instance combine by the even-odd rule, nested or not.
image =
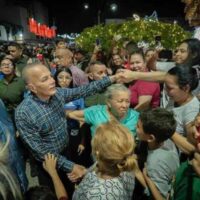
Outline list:
[[[147,142],[148,153],[146,174],[154,183],[149,189],[152,196],[157,194],[166,199],[172,178],[179,167],[179,156],[171,136],[176,129],[176,121],[171,112],[163,108],[155,108],[142,112],[138,121],[137,136]]]

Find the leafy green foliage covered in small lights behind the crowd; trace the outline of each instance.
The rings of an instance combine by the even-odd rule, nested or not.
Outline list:
[[[96,39],[100,39],[103,49],[109,51],[113,43],[120,46],[123,38],[128,38],[135,42],[148,43],[150,47],[155,47],[155,37],[161,36],[161,44],[164,48],[174,49],[182,40],[190,38],[191,33],[185,31],[178,24],[164,23],[153,20],[128,20],[122,24],[97,25],[86,28],[76,38],[76,44],[87,50],[92,51]],[[114,40],[114,36],[121,39]]]

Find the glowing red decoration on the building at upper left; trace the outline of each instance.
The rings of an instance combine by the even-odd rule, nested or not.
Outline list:
[[[40,24],[33,18],[29,18],[29,31],[34,33],[37,36],[43,38],[55,38],[56,37],[56,28],[48,27],[45,24]]]

